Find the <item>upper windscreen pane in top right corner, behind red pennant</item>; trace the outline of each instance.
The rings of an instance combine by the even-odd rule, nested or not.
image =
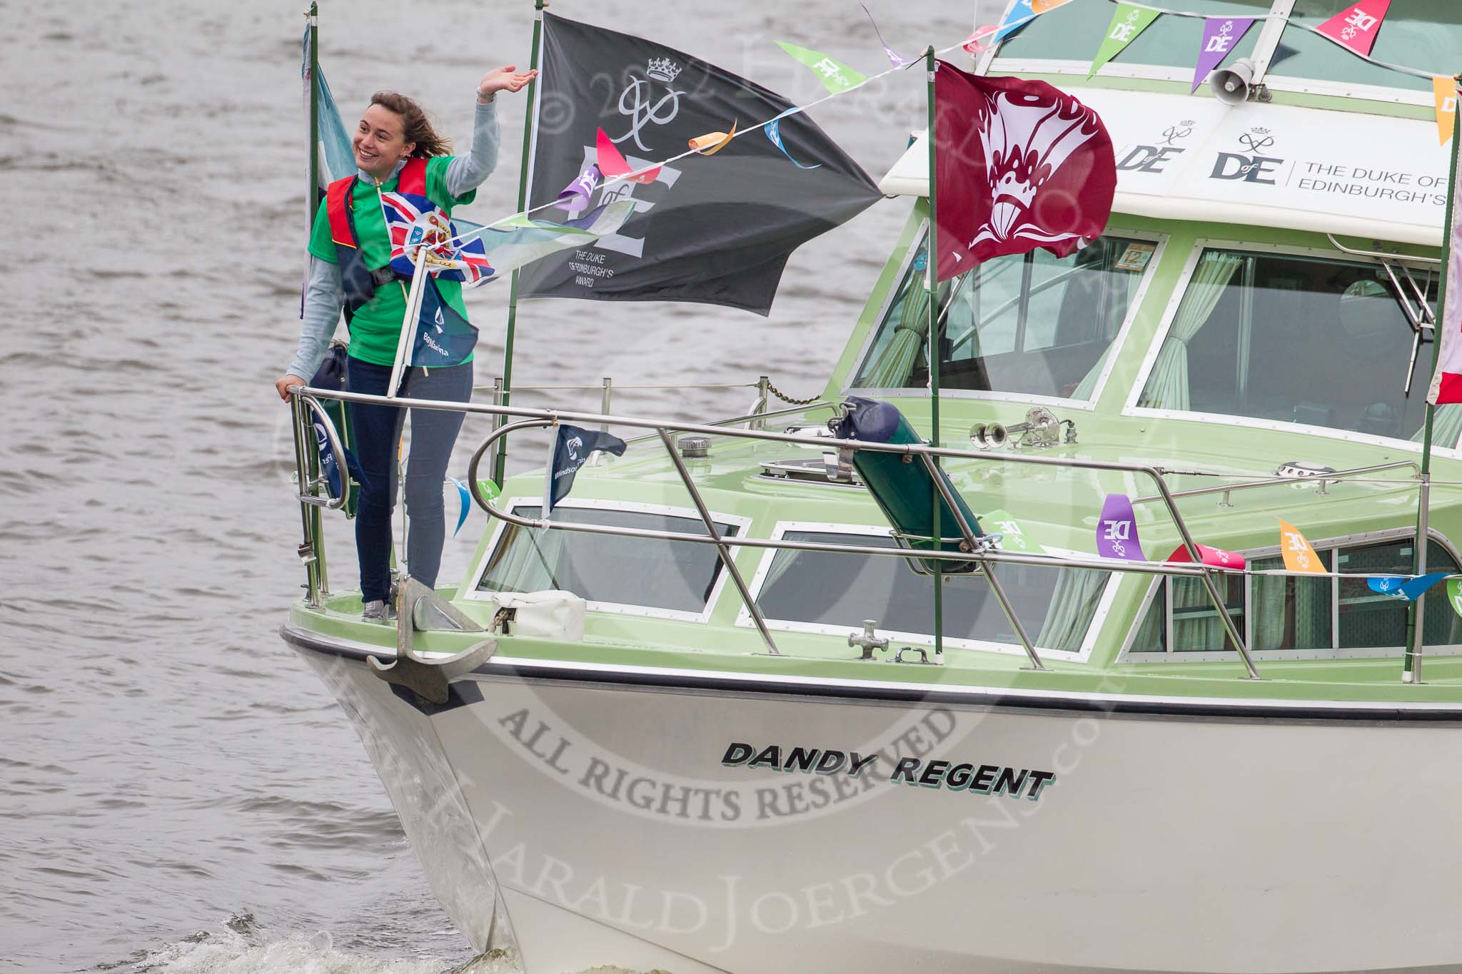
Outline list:
[[[1371,64],[1339,44],[1300,26],[1319,26],[1349,6],[1351,3],[1345,0],[1297,0],[1289,15],[1291,25],[1285,28],[1279,47],[1269,61],[1269,76],[1323,80],[1339,88],[1374,85],[1430,92],[1430,77],[1415,77]],[[1387,9],[1370,55],[1377,61],[1449,76],[1456,72],[1459,47],[1462,47],[1462,4],[1456,0],[1409,0]]]

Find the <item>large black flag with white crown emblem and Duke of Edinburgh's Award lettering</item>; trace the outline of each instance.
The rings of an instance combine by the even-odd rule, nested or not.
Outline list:
[[[601,129],[635,169],[708,133],[753,131],[649,183],[601,183],[583,204],[633,199],[635,215],[617,234],[525,267],[525,296],[697,301],[765,315],[787,257],[879,199],[806,112],[778,123],[778,145],[756,126],[789,101],[674,48],[545,15],[541,69],[532,206],[599,162]]]

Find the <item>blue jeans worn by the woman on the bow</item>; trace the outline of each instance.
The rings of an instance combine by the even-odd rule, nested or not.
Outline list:
[[[352,393],[385,396],[389,365],[346,361]],[[409,368],[401,394],[465,403],[472,399],[472,364],[450,368]],[[355,511],[355,556],[361,565],[361,599],[390,597],[390,513],[396,507],[396,445],[406,410],[396,406],[351,403],[351,438],[366,483]],[[462,413],[437,409],[411,410],[411,456],[406,459],[406,570],[427,587],[437,584],[446,514],[442,482],[452,461],[452,445],[462,429]]]

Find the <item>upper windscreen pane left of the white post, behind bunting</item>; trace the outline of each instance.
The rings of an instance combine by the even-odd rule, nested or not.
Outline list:
[[[1251,18],[1269,13],[1270,0],[1205,0],[1205,16]],[[1111,3],[1067,3],[1038,16],[1000,45],[991,73],[1000,74],[1000,60],[1058,60],[1091,64],[1107,37]],[[1254,23],[1234,45],[1225,61],[1253,57],[1254,44],[1263,23]],[[1203,42],[1202,18],[1161,16],[1117,55],[1114,66],[1155,64],[1187,69],[1193,74],[1194,51]],[[1085,67],[1083,67],[1085,70]]]

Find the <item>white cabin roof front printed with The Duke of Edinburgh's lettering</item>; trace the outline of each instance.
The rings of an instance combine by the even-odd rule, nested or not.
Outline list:
[[[1442,245],[1449,158],[1434,121],[1098,88],[1077,98],[1117,153],[1113,213]],[[927,196],[927,152],[918,133],[879,188]]]

